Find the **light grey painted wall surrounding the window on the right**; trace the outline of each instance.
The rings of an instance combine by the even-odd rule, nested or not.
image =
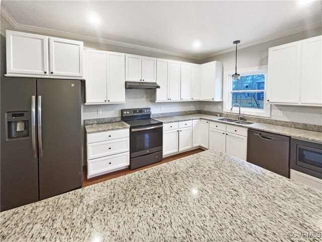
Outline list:
[[[237,52],[237,72],[238,69],[250,68],[268,64],[268,48],[278,46],[322,34],[322,28],[307,30],[298,34],[286,36],[283,38],[271,40],[262,44],[239,49]],[[243,44],[243,40],[241,40]],[[234,70],[235,67],[235,52],[229,52],[207,59],[203,59],[201,63],[218,60],[223,62],[224,71]],[[269,81],[269,80],[268,80]],[[202,102],[205,103],[205,102]],[[221,107],[222,102],[215,104],[201,104],[201,110],[219,112],[218,107]],[[282,110],[283,116],[271,116],[272,119],[292,121],[308,124],[322,124],[322,108],[319,107],[296,107],[296,106],[281,106],[271,105],[271,110]]]

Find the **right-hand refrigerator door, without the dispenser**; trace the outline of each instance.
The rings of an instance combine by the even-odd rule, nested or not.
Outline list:
[[[81,82],[37,79],[39,197],[82,186]]]

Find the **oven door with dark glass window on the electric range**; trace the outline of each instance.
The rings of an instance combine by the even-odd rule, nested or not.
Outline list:
[[[163,125],[132,128],[130,132],[131,158],[162,151]]]

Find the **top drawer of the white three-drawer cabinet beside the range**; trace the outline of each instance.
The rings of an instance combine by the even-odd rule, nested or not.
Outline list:
[[[106,132],[87,134],[87,143],[90,144],[127,137],[130,137],[130,129],[111,130]]]

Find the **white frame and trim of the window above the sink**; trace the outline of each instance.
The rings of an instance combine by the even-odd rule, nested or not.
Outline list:
[[[224,113],[234,113],[238,114],[238,108],[234,107],[232,112],[230,112],[231,108],[231,91],[232,91],[232,74],[234,70],[229,70],[224,72],[224,85],[223,85],[223,112]],[[240,108],[240,113],[244,115],[251,116],[261,116],[261,117],[270,117],[271,116],[271,105],[266,103],[267,97],[267,65],[256,66],[246,69],[239,69],[238,73],[240,75],[254,75],[257,73],[265,73],[265,88],[258,90],[258,92],[264,91],[264,109],[252,109],[252,108]],[[249,92],[252,92],[250,90]]]

